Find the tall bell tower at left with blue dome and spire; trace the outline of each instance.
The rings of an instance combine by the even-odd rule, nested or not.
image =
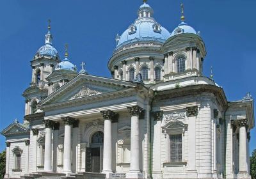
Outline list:
[[[29,88],[22,96],[25,97],[25,115],[36,112],[36,105],[48,95],[46,77],[50,75],[54,66],[60,62],[58,51],[52,46],[51,20],[48,20],[48,32],[45,35],[45,45],[36,51],[31,61],[32,78]]]

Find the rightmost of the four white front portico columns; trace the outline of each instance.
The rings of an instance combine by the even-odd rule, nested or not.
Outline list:
[[[143,113],[143,109],[138,106],[127,107],[131,115],[131,165],[130,173],[127,178],[138,178],[140,173],[140,130],[139,130],[139,116]]]

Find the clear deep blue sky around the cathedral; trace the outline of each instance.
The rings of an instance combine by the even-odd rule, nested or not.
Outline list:
[[[180,2],[150,0],[154,18],[168,31],[180,22]],[[186,22],[200,31],[207,56],[204,75],[213,67],[214,80],[225,90],[228,100],[240,100],[247,92],[256,97],[255,42],[256,1],[184,0]],[[31,66],[44,45],[47,19],[52,21],[53,45],[61,58],[64,44],[69,59],[89,74],[110,77],[108,59],[115,48],[116,33],[136,19],[142,0],[0,2],[0,130],[24,116],[24,89],[31,82]],[[251,132],[250,151],[256,148],[256,132]],[[0,151],[5,148],[0,136]]]

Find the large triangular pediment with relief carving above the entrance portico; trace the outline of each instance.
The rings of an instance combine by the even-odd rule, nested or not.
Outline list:
[[[114,91],[135,88],[136,84],[93,75],[79,74],[40,102],[39,106],[69,102]]]

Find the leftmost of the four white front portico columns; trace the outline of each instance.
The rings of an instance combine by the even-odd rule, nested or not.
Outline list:
[[[45,120],[44,171],[52,172],[52,127],[53,121]]]

